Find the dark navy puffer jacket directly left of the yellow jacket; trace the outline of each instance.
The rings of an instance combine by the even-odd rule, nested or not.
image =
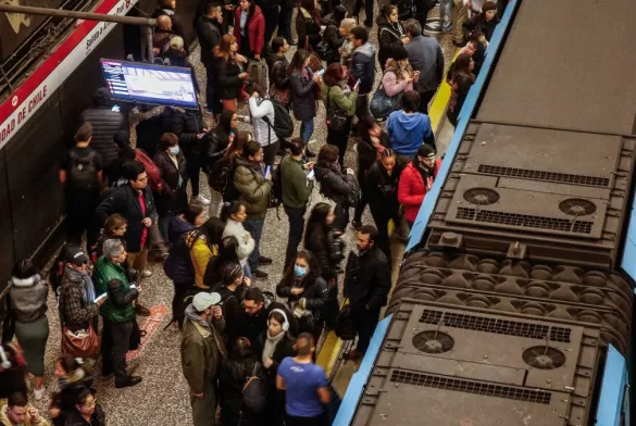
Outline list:
[[[195,266],[190,259],[190,250],[186,245],[186,236],[192,229],[195,225],[179,216],[174,216],[170,221],[167,240],[172,243],[172,248],[163,262],[163,271],[174,283],[189,285],[195,283]]]

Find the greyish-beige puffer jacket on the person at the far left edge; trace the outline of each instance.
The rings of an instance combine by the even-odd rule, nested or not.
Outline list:
[[[18,323],[33,323],[47,314],[49,284],[39,275],[11,278],[9,300],[12,315]]]

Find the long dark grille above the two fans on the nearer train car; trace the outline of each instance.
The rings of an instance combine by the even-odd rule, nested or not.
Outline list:
[[[549,327],[547,325],[522,323],[516,321],[499,320],[487,316],[457,314],[452,312],[424,310],[420,323],[446,327],[462,328],[475,331],[494,333],[497,335],[526,337],[529,339],[545,339],[550,341],[570,342],[570,328]]]

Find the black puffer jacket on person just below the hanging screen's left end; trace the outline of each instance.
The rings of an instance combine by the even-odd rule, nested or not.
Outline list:
[[[112,111],[109,105],[88,109],[82,113],[82,122],[92,126],[90,148],[100,153],[104,168],[117,158],[119,150],[114,136],[126,130],[126,120],[121,112]]]

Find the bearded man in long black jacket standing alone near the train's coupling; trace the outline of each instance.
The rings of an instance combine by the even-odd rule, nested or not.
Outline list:
[[[356,248],[349,253],[345,272],[344,295],[349,298],[358,330],[358,344],[348,354],[350,360],[364,355],[386,304],[391,288],[391,273],[386,255],[375,247],[377,229],[364,225],[358,230]]]

